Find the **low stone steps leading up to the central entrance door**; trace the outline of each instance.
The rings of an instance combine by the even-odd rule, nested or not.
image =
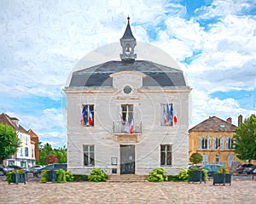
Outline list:
[[[108,182],[148,182],[145,175],[136,175],[136,174],[121,174],[121,175],[109,175]]]

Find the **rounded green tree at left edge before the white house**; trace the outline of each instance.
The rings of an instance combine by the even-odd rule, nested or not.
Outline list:
[[[15,155],[20,146],[20,139],[18,138],[15,129],[8,125],[0,124],[0,163],[8,159],[9,156]]]

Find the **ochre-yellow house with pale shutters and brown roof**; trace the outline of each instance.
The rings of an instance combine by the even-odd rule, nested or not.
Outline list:
[[[240,124],[242,117],[238,117]],[[207,120],[189,129],[189,157],[198,152],[203,156],[202,165],[220,163],[227,167],[236,166],[241,162],[234,153],[233,136],[236,126],[231,118],[224,121],[217,116],[210,116]]]

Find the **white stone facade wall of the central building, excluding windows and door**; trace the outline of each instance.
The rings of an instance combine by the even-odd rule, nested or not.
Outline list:
[[[128,158],[134,161],[135,174],[148,174],[156,167],[164,167],[168,174],[177,174],[187,167],[190,88],[144,88],[144,74],[137,71],[121,71],[111,77],[112,88],[64,88],[67,94],[68,169],[84,174],[99,167],[108,173],[115,173],[113,169],[116,169],[119,174],[121,145],[134,147],[134,155]],[[131,87],[130,94],[124,93],[125,86]],[[166,104],[173,105],[177,124],[161,125],[161,105]],[[83,105],[94,105],[93,127],[79,123]],[[134,126],[140,127],[138,133],[115,130],[115,124],[121,122],[121,105],[133,105]],[[92,166],[84,165],[83,144],[94,145],[95,163]],[[172,145],[171,165],[160,165],[161,144]]]

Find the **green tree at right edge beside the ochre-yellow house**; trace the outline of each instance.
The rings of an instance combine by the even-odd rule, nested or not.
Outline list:
[[[236,128],[235,153],[241,160],[256,160],[256,116],[252,114]]]

